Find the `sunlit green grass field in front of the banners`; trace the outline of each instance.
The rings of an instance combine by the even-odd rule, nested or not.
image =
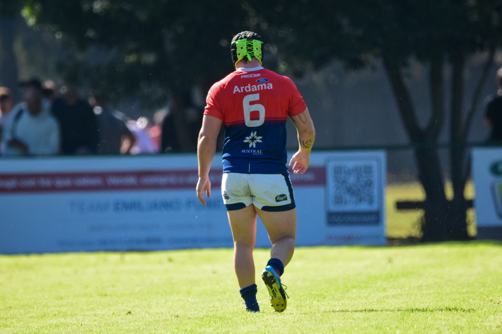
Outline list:
[[[0,256],[0,332],[502,333],[502,243],[298,248],[283,313],[258,280],[262,312],[246,313],[231,263],[231,249]]]

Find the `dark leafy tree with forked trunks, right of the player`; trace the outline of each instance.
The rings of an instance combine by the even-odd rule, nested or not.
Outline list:
[[[427,198],[423,239],[467,239],[464,189],[470,174],[466,140],[479,94],[500,45],[502,2],[454,0],[362,0],[269,2],[259,18],[292,65],[320,69],[333,59],[348,67],[382,59],[409,140],[415,146],[419,179]],[[487,61],[463,110],[466,60],[486,53]],[[421,127],[405,84],[410,59],[429,66],[431,116]],[[437,152],[445,125],[445,66],[451,71],[450,177],[454,196],[445,195]]]

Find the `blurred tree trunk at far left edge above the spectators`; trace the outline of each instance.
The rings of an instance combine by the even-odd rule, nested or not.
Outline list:
[[[20,98],[18,90],[18,67],[13,48],[16,36],[16,19],[0,18],[0,32],[2,34],[0,80],[3,86],[11,89],[14,100],[17,101]]]

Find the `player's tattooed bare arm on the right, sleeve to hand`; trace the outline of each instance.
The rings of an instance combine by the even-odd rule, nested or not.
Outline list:
[[[291,121],[296,127],[298,132],[298,143],[299,149],[289,162],[290,166],[293,166],[293,173],[303,174],[309,168],[309,155],[312,145],[315,139],[314,123],[310,118],[309,109],[305,108],[305,111],[301,114],[290,116]]]

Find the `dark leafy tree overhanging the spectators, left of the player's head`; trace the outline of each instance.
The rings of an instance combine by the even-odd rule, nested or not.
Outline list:
[[[231,1],[27,0],[23,16],[70,50],[61,66],[68,81],[154,106],[170,95],[178,142],[187,151],[197,140],[184,112],[187,96],[232,71],[230,40],[249,26],[250,13]],[[97,56],[83,58],[88,50]]]

